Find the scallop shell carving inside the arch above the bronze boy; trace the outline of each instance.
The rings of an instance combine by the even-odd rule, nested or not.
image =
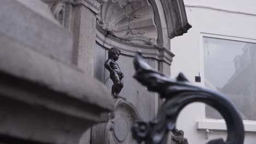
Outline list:
[[[156,45],[154,11],[147,0],[104,0],[98,25],[131,43]]]

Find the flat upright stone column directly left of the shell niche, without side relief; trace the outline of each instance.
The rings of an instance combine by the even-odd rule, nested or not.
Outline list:
[[[99,13],[98,10],[100,10],[100,3],[96,0],[74,2],[74,63],[90,76],[93,76],[94,73],[96,14]]]

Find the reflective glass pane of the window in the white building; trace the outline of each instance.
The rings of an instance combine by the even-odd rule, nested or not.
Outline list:
[[[205,86],[222,92],[243,119],[256,121],[256,44],[203,38]],[[222,118],[206,106],[206,118]]]

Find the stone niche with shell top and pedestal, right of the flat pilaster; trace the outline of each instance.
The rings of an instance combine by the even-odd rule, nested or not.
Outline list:
[[[113,82],[108,79],[109,72],[104,68],[104,62],[108,58],[108,50],[117,47],[121,50],[117,63],[125,76],[120,96],[126,100],[116,101],[108,122],[92,127],[92,144],[136,143],[130,137],[132,123],[139,119],[149,121],[157,115],[161,104],[159,95],[148,92],[132,78],[135,73],[133,56],[140,50],[151,67],[170,75],[174,57],[170,39],[187,32],[190,25],[183,1],[168,1],[101,1],[96,23],[94,76],[111,91]]]

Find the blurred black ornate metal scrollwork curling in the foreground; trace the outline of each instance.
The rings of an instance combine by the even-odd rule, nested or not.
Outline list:
[[[184,106],[193,102],[203,102],[222,114],[228,128],[226,142],[216,139],[208,144],[242,144],[245,138],[243,123],[236,107],[221,93],[211,89],[195,86],[180,73],[176,80],[153,70],[143,61],[141,53],[134,60],[135,79],[146,86],[149,91],[158,92],[161,98],[166,98],[158,116],[149,123],[139,121],[133,125],[132,134],[138,141],[146,144],[165,144],[168,131],[175,131],[176,119]]]

